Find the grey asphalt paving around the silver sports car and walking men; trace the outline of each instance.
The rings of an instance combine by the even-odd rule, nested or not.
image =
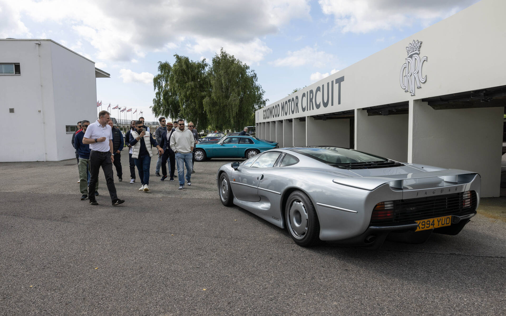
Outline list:
[[[103,174],[80,201],[75,160],[0,163],[0,315],[501,315],[506,223],[478,214],[457,236],[379,250],[302,248],[221,204],[216,170],[150,192]],[[493,199],[487,199],[493,201]]]

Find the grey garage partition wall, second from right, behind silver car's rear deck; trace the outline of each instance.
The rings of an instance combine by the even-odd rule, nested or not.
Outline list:
[[[408,114],[367,116],[356,109],[355,149],[407,162]]]

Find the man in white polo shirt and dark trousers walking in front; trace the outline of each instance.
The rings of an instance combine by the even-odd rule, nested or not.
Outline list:
[[[114,187],[114,178],[112,171],[112,162],[114,161],[113,145],[112,145],[112,129],[107,125],[110,114],[107,111],[100,111],[98,120],[90,124],[82,139],[83,144],[90,144],[90,184],[88,186],[88,196],[91,205],[98,205],[95,199],[95,183],[98,181],[98,173],[100,167],[104,171],[105,180],[107,182],[107,190],[111,195],[112,205],[119,205],[124,200],[118,199],[116,196],[116,187]],[[91,188],[91,189],[90,189]],[[91,190],[91,191],[90,191]]]

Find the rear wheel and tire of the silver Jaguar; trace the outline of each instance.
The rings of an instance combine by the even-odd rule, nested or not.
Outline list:
[[[299,246],[320,243],[320,222],[311,199],[302,191],[293,191],[285,206],[286,229]]]

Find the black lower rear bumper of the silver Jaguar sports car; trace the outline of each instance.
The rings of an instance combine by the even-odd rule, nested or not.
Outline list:
[[[387,237],[389,240],[393,241],[423,243],[433,232],[445,235],[457,235],[474,215],[476,215],[476,211],[465,215],[451,215],[451,225],[419,232],[415,232],[418,227],[415,221],[399,225],[370,225],[365,232],[359,236],[327,242],[343,246],[361,246],[368,249],[378,249],[383,242],[385,242]]]

